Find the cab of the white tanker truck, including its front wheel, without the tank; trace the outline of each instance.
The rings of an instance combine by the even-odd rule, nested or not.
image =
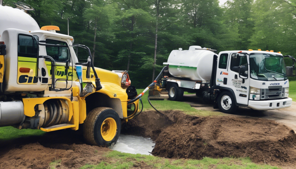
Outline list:
[[[288,97],[291,69],[286,68],[280,52],[221,51],[215,75],[215,86],[221,92],[216,100],[218,107],[223,112],[234,111],[237,106],[253,110],[291,107],[292,99]]]

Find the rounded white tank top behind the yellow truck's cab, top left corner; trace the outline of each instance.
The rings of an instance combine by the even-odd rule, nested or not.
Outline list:
[[[20,9],[0,5],[0,35],[8,28],[40,30],[37,22]]]

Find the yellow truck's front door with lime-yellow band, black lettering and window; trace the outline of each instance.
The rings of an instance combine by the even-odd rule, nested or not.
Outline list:
[[[46,38],[46,44],[68,45],[66,41],[56,38]],[[72,76],[68,76],[68,64],[70,62],[69,49],[67,47],[46,46],[46,54],[52,57],[57,64],[55,69],[55,87],[61,89],[70,88],[72,85]],[[51,73],[51,62],[46,62],[46,66]]]

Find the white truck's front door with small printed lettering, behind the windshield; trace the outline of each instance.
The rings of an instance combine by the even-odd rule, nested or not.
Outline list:
[[[234,91],[238,104],[248,104],[250,78],[248,78],[249,62],[248,55],[243,53],[231,53],[228,63],[228,81],[227,87]],[[246,71],[239,72],[239,67],[245,66]],[[241,73],[241,78],[239,76]]]

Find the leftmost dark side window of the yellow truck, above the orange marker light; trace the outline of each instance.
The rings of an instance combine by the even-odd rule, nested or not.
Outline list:
[[[38,44],[30,35],[18,35],[17,56],[37,58]]]

